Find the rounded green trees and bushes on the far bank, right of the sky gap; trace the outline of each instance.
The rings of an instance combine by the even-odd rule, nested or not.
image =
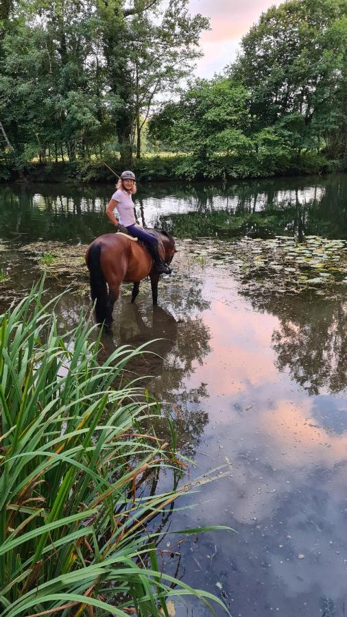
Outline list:
[[[346,62],[346,3],[287,1],[250,29],[224,77],[197,80],[155,114],[149,138],[193,156],[187,177],[324,171],[329,157],[336,167],[347,153]]]

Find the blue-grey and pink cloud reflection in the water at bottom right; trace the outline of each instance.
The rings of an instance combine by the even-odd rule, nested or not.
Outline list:
[[[281,386],[289,391],[289,380]],[[301,606],[312,603],[307,614],[320,614],[323,596],[336,602],[345,590],[347,436],[315,426],[312,398],[281,398],[278,385],[270,401],[270,388],[265,382],[249,389],[239,399],[241,415],[224,413],[213,425],[208,452],[215,464],[228,457],[231,477],[213,485],[213,504],[203,506],[201,524],[216,522],[217,503],[218,524],[239,532],[238,537],[224,535],[222,542],[215,537],[219,553],[213,566],[225,572],[230,559],[235,563],[224,590],[234,596],[240,585],[238,611],[247,607],[248,598],[255,604],[260,594],[259,615],[267,614],[266,603],[285,616],[301,614],[302,594]],[[201,503],[209,494],[211,487]]]

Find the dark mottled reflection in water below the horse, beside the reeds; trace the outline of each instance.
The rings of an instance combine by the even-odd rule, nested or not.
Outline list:
[[[183,293],[180,299],[181,295]],[[127,364],[126,370],[128,378],[152,376],[150,380],[141,380],[140,385],[145,385],[158,401],[163,402],[163,413],[171,415],[175,422],[178,449],[190,455],[208,422],[208,415],[201,407],[202,399],[208,396],[206,386],[203,383],[193,389],[186,386],[195,365],[201,364],[210,350],[209,333],[204,322],[191,315],[196,304],[204,308],[208,306],[202,300],[201,288],[195,280],[184,289],[184,302],[180,306],[184,319],[175,319],[160,306],[151,307],[143,314],[139,306],[129,304],[128,298],[121,298],[114,313],[113,339],[103,339],[105,354],[110,354],[115,346],[139,347],[148,341],[162,339],[146,348],[153,354],[136,356]],[[156,431],[158,435],[167,431],[166,422],[157,422]]]

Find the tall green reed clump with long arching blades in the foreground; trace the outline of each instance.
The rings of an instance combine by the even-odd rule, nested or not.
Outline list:
[[[141,432],[155,404],[114,386],[141,348],[99,365],[91,324],[60,335],[42,286],[0,317],[1,615],[168,616],[167,598],[185,594],[224,607],[158,567],[146,524],[184,487],[143,490],[180,464]]]

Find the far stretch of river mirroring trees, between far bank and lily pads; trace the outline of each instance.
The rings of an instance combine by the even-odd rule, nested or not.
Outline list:
[[[140,222],[176,237],[323,234],[347,237],[346,174],[226,184],[143,184],[134,197]],[[91,241],[110,230],[104,215],[113,184],[1,185],[0,235]]]

